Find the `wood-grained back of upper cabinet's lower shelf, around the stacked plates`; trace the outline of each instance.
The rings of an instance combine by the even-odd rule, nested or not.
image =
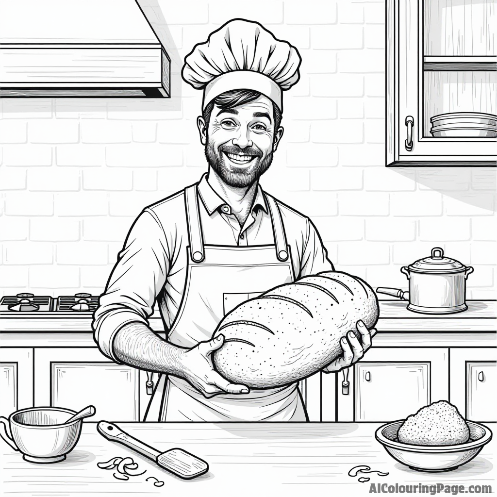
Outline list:
[[[432,137],[430,119],[449,112],[483,112],[496,114],[495,71],[424,71],[423,136]],[[465,124],[472,126],[477,123]],[[477,136],[465,131],[464,136]],[[483,131],[483,134],[487,134]],[[481,135],[480,135],[481,136]],[[493,135],[495,137],[495,134]],[[487,136],[492,138],[492,136]]]

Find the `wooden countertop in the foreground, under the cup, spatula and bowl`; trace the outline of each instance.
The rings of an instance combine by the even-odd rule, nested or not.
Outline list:
[[[184,481],[156,466],[152,461],[103,438],[96,423],[83,423],[76,448],[66,461],[39,465],[24,461],[19,453],[1,444],[2,495],[16,496],[257,496],[269,490],[285,497],[323,491],[366,495],[371,483],[388,485],[493,485],[491,440],[466,465],[446,473],[421,473],[395,461],[376,441],[374,432],[381,423],[119,423],[131,435],[158,450],[181,447],[209,464],[209,472]],[[495,430],[495,423],[490,423]],[[112,471],[97,462],[112,457],[132,457],[142,476],[127,482],[113,478]],[[347,475],[356,465],[388,472],[360,483]],[[145,479],[154,476],[165,485],[154,487]],[[361,476],[359,474],[359,476]]]

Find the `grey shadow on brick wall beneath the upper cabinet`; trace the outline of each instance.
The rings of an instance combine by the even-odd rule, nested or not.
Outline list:
[[[415,178],[420,190],[434,190],[446,197],[496,212],[495,167],[388,167],[405,177]]]

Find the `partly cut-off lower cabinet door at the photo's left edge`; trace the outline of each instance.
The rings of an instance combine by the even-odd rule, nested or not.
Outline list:
[[[33,407],[33,349],[0,349],[0,415]]]

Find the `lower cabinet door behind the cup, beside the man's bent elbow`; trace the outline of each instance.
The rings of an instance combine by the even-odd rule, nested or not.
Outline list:
[[[37,349],[35,403],[74,411],[93,405],[98,419],[139,421],[146,407],[140,402],[146,381],[141,373],[110,361],[93,347]]]

